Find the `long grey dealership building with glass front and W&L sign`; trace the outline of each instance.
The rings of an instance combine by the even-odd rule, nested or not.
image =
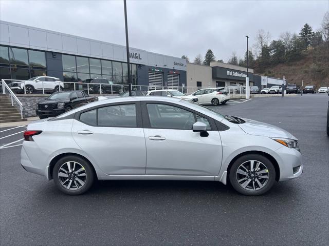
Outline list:
[[[130,48],[133,85],[186,86],[186,60]],[[0,78],[128,83],[125,46],[0,20]]]

